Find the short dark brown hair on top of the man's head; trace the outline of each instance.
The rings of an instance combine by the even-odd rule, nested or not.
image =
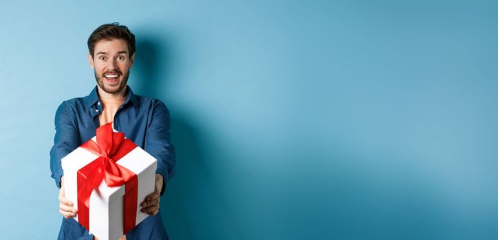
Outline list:
[[[128,51],[130,57],[135,53],[135,35],[130,32],[125,25],[119,25],[119,23],[110,23],[100,25],[88,38],[88,51],[91,57],[94,57],[95,45],[100,40],[112,40],[112,39],[123,39],[128,43]]]

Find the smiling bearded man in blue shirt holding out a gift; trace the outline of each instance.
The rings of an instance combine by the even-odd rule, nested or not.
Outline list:
[[[95,239],[74,216],[73,203],[64,195],[61,158],[91,137],[96,128],[113,122],[113,127],[158,160],[155,192],[142,202],[141,211],[150,216],[121,239],[168,239],[159,213],[160,195],[175,171],[175,151],[169,134],[169,111],[162,101],[133,94],[127,86],[135,60],[135,36],[119,23],[98,27],[88,38],[88,60],[97,86],[86,97],[63,101],[55,115],[56,134],[50,151],[50,169],[59,191],[63,222],[58,239]]]

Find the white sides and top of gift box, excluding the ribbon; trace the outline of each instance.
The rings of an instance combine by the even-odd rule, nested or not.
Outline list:
[[[96,137],[91,139],[96,142]],[[83,147],[78,147],[70,154],[62,158],[64,170],[65,197],[71,200],[74,208],[78,209],[78,170],[98,158]],[[155,169],[157,160],[141,149],[136,147],[127,155],[116,161],[116,164],[133,171],[138,178],[138,199],[136,207],[135,226],[143,221],[147,214],[140,212],[140,204],[147,195],[154,192]],[[102,180],[98,189],[91,192],[89,204],[89,232],[100,240],[116,240],[123,235],[123,196],[125,195],[125,184],[120,187],[107,187]],[[78,215],[74,217],[78,221]]]

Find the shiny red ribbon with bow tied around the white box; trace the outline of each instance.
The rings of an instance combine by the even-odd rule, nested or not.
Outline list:
[[[98,156],[98,158],[78,170],[78,221],[90,230],[89,208],[90,195],[102,182],[109,187],[119,187],[125,184],[123,198],[123,234],[135,227],[138,202],[138,178],[133,171],[116,164],[137,145],[125,139],[122,132],[113,132],[112,122],[97,128],[97,143],[91,139],[80,147]]]

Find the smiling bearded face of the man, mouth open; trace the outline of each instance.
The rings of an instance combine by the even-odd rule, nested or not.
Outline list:
[[[127,86],[135,53],[129,56],[126,40],[100,40],[95,45],[94,57],[88,54],[88,60],[95,71],[98,86],[106,93],[114,94]]]

